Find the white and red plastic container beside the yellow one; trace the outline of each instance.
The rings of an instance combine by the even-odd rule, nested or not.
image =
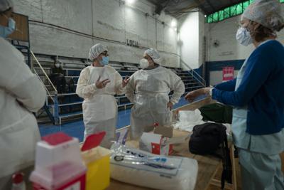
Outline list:
[[[30,180],[34,190],[84,190],[86,170],[79,140],[60,132],[38,142]]]

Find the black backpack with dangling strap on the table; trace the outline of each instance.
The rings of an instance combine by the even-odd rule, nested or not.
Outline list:
[[[230,150],[226,138],[226,127],[224,125],[210,122],[196,125],[193,127],[189,147],[192,154],[212,154],[221,158],[223,162],[222,189],[224,189],[225,181],[231,184]],[[220,147],[222,154],[217,154]]]

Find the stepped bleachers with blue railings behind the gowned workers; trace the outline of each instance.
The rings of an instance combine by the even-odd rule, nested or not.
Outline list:
[[[40,65],[44,68],[45,73],[50,75],[51,68],[53,68],[54,58],[52,56],[47,55],[35,55],[38,58]],[[75,94],[75,89],[77,85],[78,78],[80,76],[80,72],[87,65],[86,59],[82,58],[66,58],[66,57],[58,57],[57,58],[60,63],[62,63],[62,68],[65,71],[65,78],[72,79],[74,84],[67,85],[65,93],[58,94],[58,111],[59,111],[59,124],[65,120],[70,120],[72,118],[82,118],[82,98],[78,97]],[[34,62],[33,62],[34,63]],[[52,97],[54,95],[54,90],[52,85],[48,82],[48,79],[45,77],[43,71],[36,65],[32,64],[32,68],[36,70],[40,79],[45,84],[46,89],[50,92],[50,95],[46,98],[46,106],[50,109],[50,112],[54,110],[54,103]],[[136,70],[139,70],[138,64],[134,63],[117,63],[111,62],[110,65],[114,67],[121,74],[122,77],[131,76]],[[194,75],[189,71],[182,70],[181,68],[170,68],[177,75],[182,78],[182,81],[185,83],[185,93],[188,93],[192,90],[196,90],[198,88],[202,88],[202,84],[195,79]],[[172,92],[170,93],[170,95]],[[116,100],[118,103],[119,110],[125,110],[132,106],[131,102],[127,99],[125,95],[116,95]]]

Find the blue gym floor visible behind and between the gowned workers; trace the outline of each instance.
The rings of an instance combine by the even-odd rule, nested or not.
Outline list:
[[[187,100],[185,100],[184,97],[180,99],[180,101],[174,105],[174,109],[181,107],[182,105],[188,104]],[[116,129],[119,129],[121,127],[125,127],[127,125],[130,125],[130,113],[131,109],[129,110],[121,110],[118,113],[117,123],[116,123]],[[66,134],[77,137],[80,142],[82,142],[84,137],[84,123],[83,120],[76,121],[76,122],[69,122],[62,125],[39,125],[40,135],[43,137],[47,134],[52,134],[55,132],[65,132]]]

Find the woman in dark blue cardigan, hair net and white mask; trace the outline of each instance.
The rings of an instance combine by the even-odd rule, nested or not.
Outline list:
[[[284,47],[276,32],[284,27],[277,0],[256,0],[241,16],[236,39],[256,49],[242,65],[237,78],[198,95],[234,106],[232,134],[239,150],[242,189],[284,189],[280,152],[284,148]]]

